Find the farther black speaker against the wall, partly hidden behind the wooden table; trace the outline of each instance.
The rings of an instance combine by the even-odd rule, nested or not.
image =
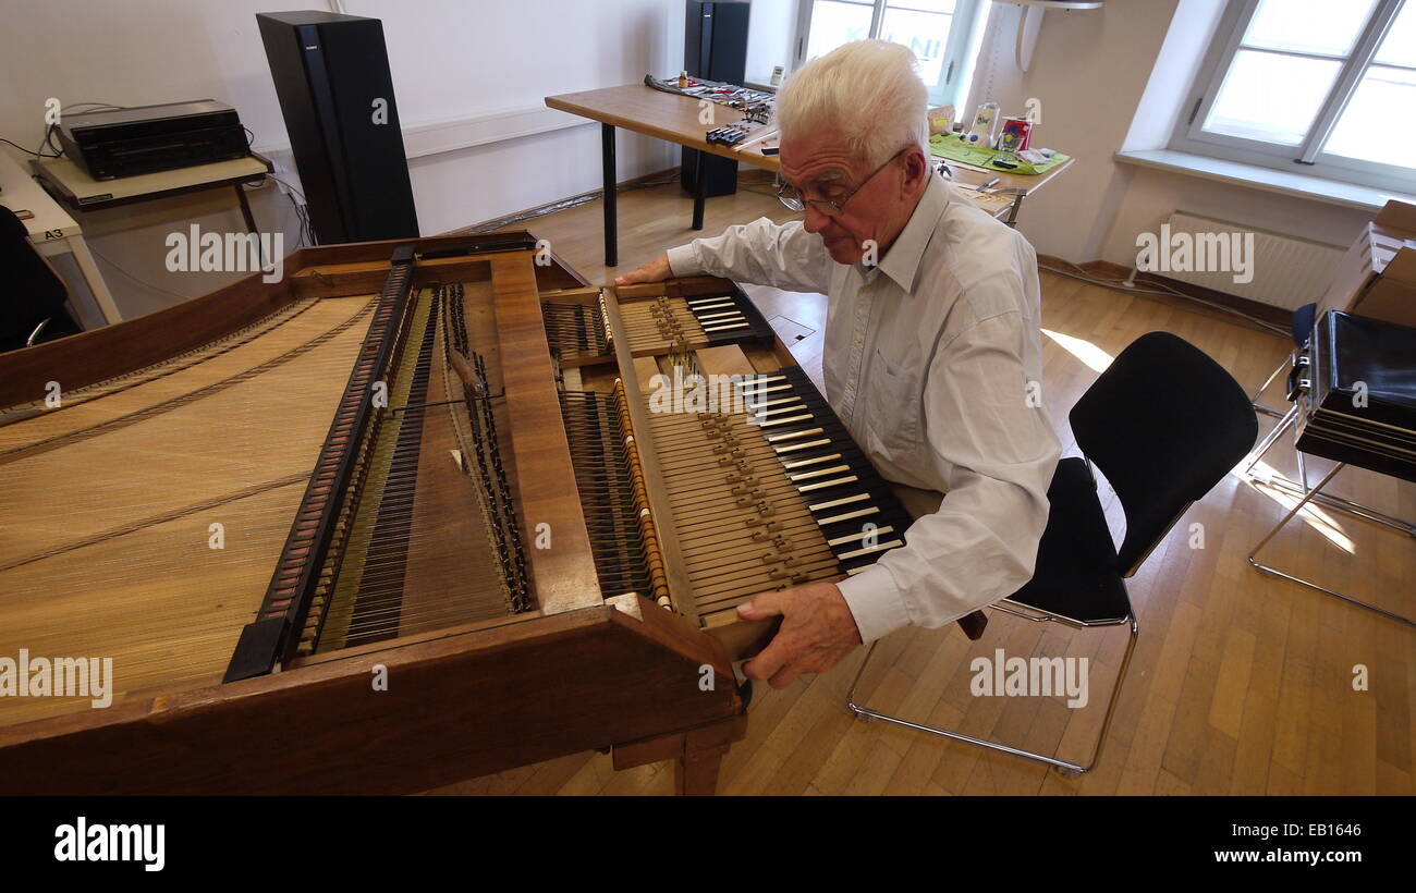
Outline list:
[[[742,86],[748,78],[748,17],[752,4],[746,0],[687,0],[684,13],[684,69],[694,78],[724,81]],[[711,130],[705,126],[704,132]],[[683,181],[692,195],[698,164],[704,170],[704,195],[732,195],[738,191],[738,163],[733,159],[709,156],[684,149]]]

